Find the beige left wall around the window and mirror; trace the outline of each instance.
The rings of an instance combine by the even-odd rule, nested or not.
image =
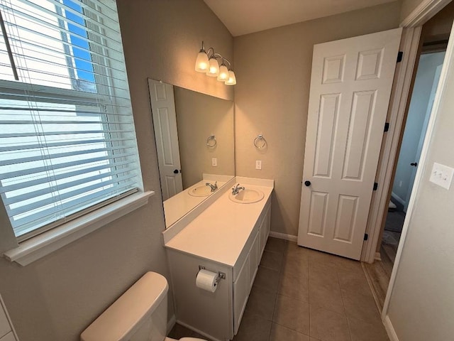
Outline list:
[[[147,77],[233,98],[192,72],[201,39],[231,57],[233,38],[201,0],[118,0],[145,189],[145,207],[21,267],[0,258],[0,293],[21,341],[72,341],[145,271],[168,278]],[[172,306],[170,306],[172,311]]]

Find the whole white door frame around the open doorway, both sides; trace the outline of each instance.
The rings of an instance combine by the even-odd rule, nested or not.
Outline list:
[[[365,245],[363,247],[362,261],[368,261],[372,263],[375,258],[375,250],[377,248],[378,237],[380,234],[380,229],[382,227],[382,220],[384,219],[384,208],[386,207],[385,205],[387,205],[388,200],[387,193],[389,186],[391,185],[392,168],[394,168],[394,162],[396,161],[397,157],[399,136],[402,130],[402,122],[404,120],[406,104],[409,99],[411,77],[413,76],[414,72],[417,47],[419,45],[419,39],[421,37],[422,25],[426,23],[426,21],[428,21],[430,18],[432,18],[436,13],[438,13],[438,11],[443,9],[443,7],[449,2],[450,0],[423,0],[421,4],[419,4],[419,6],[417,6],[416,9],[414,9],[414,11],[411,12],[400,25],[404,28],[401,43],[404,48],[404,60],[402,61],[402,65],[400,65],[399,70],[397,70],[396,75],[394,76],[394,95],[392,94],[392,102],[389,107],[390,123],[394,121],[394,124],[392,125],[392,129],[388,131],[388,135],[386,136],[386,141],[384,142],[385,149],[383,157],[380,163],[380,167],[377,170],[378,179],[381,180],[382,185],[380,186],[380,192],[377,191],[377,193],[375,193],[375,197],[372,197],[372,204],[370,208],[370,226],[368,226],[370,227],[372,238],[369,241],[365,242]],[[441,71],[439,82],[440,88],[438,89],[435,100],[433,102],[432,114],[428,122],[426,138],[423,144],[423,149],[421,151],[421,166],[425,166],[426,163],[429,147],[428,145],[431,141],[435,127],[441,93],[443,92],[443,87],[445,85],[448,67],[450,67],[450,59],[454,54],[453,35],[454,26],[453,31],[451,31],[448,49],[446,50],[445,63],[443,63],[443,68]],[[416,172],[413,188],[414,195],[418,193],[422,180],[422,173],[423,167],[419,168]],[[382,310],[382,321],[391,340],[398,340],[398,338],[394,331],[394,328],[392,328],[392,323],[389,320],[387,313],[389,308],[389,301],[396,281],[397,269],[399,268],[399,263],[402,257],[402,250],[405,246],[405,239],[407,237],[409,222],[411,220],[411,216],[413,215],[414,195],[411,196],[411,200],[409,202],[406,219],[404,221],[404,227],[402,229],[402,235],[400,238],[399,247],[397,249],[396,259],[394,261],[387,295],[384,300],[384,306]]]

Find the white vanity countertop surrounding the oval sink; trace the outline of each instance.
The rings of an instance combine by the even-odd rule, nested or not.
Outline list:
[[[265,185],[258,185],[260,180],[250,180],[253,185],[237,181],[245,188],[261,190],[265,195],[262,200],[250,204],[236,203],[228,198],[231,192],[228,190],[170,239],[165,247],[234,266],[273,190],[272,180],[263,180]]]

